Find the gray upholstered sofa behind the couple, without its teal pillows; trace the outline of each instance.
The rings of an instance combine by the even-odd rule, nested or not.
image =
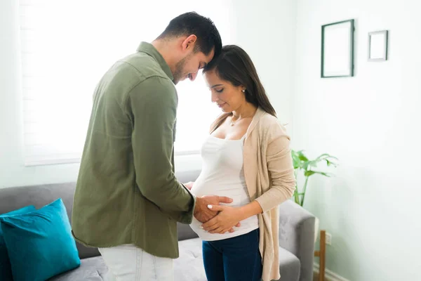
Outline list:
[[[181,182],[194,181],[198,172],[178,174]],[[34,204],[36,208],[61,197],[69,218],[72,214],[75,183],[34,185],[0,189],[0,214]],[[310,281],[313,275],[314,216],[293,202],[284,202],[280,210],[280,261],[282,281]],[[187,225],[178,225],[180,258],[174,262],[175,281],[205,281],[201,258],[201,240]],[[53,277],[54,281],[105,280],[105,266],[98,249],[77,243],[81,266]],[[3,280],[0,276],[0,280]]]

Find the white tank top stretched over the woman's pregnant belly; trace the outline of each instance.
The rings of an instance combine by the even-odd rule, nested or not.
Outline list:
[[[243,170],[243,140],[225,140],[209,136],[201,148],[202,170],[196,179],[192,193],[197,197],[218,195],[232,198],[233,202],[225,204],[239,207],[250,203]],[[222,203],[223,204],[223,203]],[[258,216],[250,216],[241,221],[234,233],[208,233],[201,229],[202,223],[193,218],[190,225],[202,240],[223,240],[249,233],[259,228]]]

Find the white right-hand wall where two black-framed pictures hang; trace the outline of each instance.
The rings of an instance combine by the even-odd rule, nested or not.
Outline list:
[[[293,146],[340,159],[305,207],[333,234],[327,268],[353,281],[421,280],[419,1],[300,0]],[[356,20],[352,78],[321,79],[321,25]],[[389,30],[389,60],[367,61]]]

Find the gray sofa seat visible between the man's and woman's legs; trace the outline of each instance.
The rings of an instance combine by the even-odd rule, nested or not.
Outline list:
[[[178,242],[180,257],[174,260],[175,281],[206,281],[201,244],[200,238]]]

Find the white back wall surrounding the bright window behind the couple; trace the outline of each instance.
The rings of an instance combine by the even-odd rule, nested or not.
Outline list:
[[[185,11],[192,9],[206,14],[208,2],[203,3],[188,4]],[[250,53],[280,119],[290,122],[288,104],[294,86],[293,30],[297,4],[294,0],[232,0],[224,4],[228,8],[219,13],[229,17],[230,24],[221,26],[220,30],[229,32],[232,38],[224,43],[240,44]],[[180,10],[180,13],[185,11]],[[215,23],[218,26],[218,22]],[[0,188],[74,181],[79,164],[23,165],[18,24],[18,1],[0,1]],[[177,157],[175,166],[178,171],[194,169],[200,166],[200,159]]]

